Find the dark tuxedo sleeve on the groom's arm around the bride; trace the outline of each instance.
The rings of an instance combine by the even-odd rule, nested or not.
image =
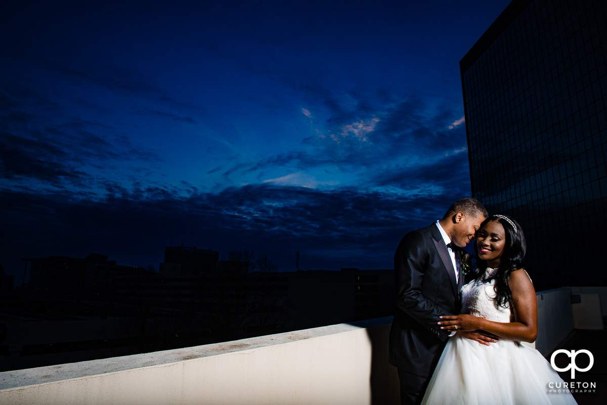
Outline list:
[[[430,249],[419,232],[410,232],[402,238],[394,257],[396,306],[407,313],[440,340],[449,333],[437,324],[440,315],[451,315],[436,301],[441,300],[440,281],[436,272],[430,274]]]

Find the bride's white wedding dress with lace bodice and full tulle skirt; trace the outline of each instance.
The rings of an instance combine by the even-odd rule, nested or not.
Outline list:
[[[492,272],[487,269],[485,278]],[[462,287],[462,313],[512,321],[510,309],[495,301],[493,281],[481,279]],[[485,346],[456,334],[449,338],[422,405],[576,404],[569,392],[549,392],[548,384],[558,381],[563,380],[540,352],[518,341],[500,339]]]

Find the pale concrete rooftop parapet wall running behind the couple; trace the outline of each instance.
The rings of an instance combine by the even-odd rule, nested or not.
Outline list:
[[[603,298],[601,300],[600,298]],[[548,355],[573,329],[603,329],[607,287],[537,293]],[[1,404],[398,404],[392,317],[140,355],[0,373]]]

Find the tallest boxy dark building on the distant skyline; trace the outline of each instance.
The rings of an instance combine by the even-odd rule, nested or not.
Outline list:
[[[219,252],[197,247],[169,246],[164,248],[163,275],[212,273],[217,269]]]

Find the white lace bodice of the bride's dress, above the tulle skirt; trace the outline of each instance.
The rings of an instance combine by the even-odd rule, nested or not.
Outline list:
[[[497,269],[488,268],[484,277],[471,281],[461,288],[461,312],[480,316],[495,322],[511,322],[512,313],[510,307],[501,307],[495,301],[495,280],[483,281],[495,273]]]

